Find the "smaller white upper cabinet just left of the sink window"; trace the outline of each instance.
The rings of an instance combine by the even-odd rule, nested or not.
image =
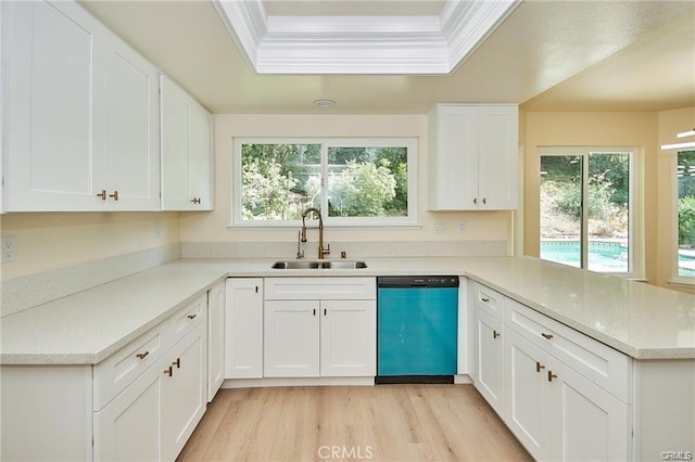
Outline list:
[[[166,76],[162,90],[162,209],[212,210],[212,116]]]

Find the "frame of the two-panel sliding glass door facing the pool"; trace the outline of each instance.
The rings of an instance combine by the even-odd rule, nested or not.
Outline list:
[[[551,155],[581,155],[584,159],[589,159],[587,154],[591,153],[628,153],[629,154],[629,168],[630,178],[628,180],[629,188],[629,223],[628,232],[630,233],[630,246],[628,247],[628,271],[627,272],[601,272],[601,274],[610,274],[628,279],[641,279],[644,275],[644,239],[643,233],[637,230],[643,227],[637,226],[642,223],[642,201],[637,202],[637,197],[642,197],[642,190],[637,191],[639,183],[635,178],[640,178],[640,169],[637,162],[641,150],[636,146],[539,146],[539,165],[542,156]],[[589,163],[585,162],[582,168],[582,184],[589,184]],[[539,177],[540,185],[540,177]],[[587,214],[587,201],[589,190],[582,185],[582,222],[581,222],[581,242],[589,244],[589,214]],[[540,192],[540,188],[539,188]],[[539,202],[540,205],[540,202]],[[540,210],[539,210],[540,211]],[[541,222],[539,213],[539,256],[540,256],[540,242],[541,242]],[[582,245],[581,267],[589,270],[589,245]]]

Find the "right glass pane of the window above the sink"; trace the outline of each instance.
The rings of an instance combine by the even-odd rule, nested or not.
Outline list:
[[[329,217],[407,217],[406,147],[329,147]]]

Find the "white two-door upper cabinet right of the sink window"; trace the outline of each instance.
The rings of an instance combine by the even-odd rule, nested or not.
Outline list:
[[[518,106],[438,104],[429,113],[429,209],[518,207]]]

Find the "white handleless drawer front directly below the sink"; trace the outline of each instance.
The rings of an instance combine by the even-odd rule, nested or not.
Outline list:
[[[266,300],[374,300],[375,278],[267,278]]]

